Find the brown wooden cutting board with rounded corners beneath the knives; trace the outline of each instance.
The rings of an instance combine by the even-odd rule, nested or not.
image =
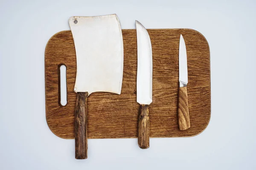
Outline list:
[[[122,30],[124,73],[122,92],[93,93],[88,97],[88,138],[136,138],[137,37],[136,30]],[[191,29],[148,29],[153,54],[153,102],[150,104],[150,137],[184,137],[201,133],[211,115],[210,52],[207,40]],[[179,40],[186,43],[188,100],[191,127],[179,130]],[[58,102],[59,69],[67,67],[67,105]],[[71,31],[51,37],[45,49],[46,119],[52,132],[64,139],[75,137],[76,51]]]

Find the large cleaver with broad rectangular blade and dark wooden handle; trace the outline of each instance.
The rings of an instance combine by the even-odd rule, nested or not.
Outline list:
[[[70,17],[76,48],[76,159],[87,159],[87,97],[93,92],[121,94],[122,30],[116,14]],[[100,114],[100,113],[99,113]]]

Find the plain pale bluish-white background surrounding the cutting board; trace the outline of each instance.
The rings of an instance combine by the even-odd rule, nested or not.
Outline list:
[[[74,140],[45,119],[44,50],[69,30],[71,16],[116,13],[122,28],[192,28],[209,42],[212,116],[190,138],[89,139],[76,160]],[[256,169],[256,1],[1,0],[0,170]]]

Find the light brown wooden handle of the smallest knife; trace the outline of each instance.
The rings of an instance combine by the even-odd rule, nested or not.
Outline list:
[[[178,122],[180,130],[186,130],[190,127],[189,103],[186,87],[179,88],[178,94]]]

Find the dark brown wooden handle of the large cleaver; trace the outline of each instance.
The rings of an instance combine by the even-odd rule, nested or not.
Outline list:
[[[76,159],[87,159],[87,97],[88,92],[78,92],[76,97]]]

